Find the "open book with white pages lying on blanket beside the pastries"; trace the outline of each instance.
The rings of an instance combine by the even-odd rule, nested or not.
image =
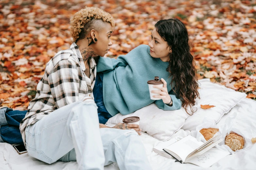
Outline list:
[[[210,167],[213,163],[230,154],[227,151],[213,148],[222,140],[221,135],[216,134],[203,143],[188,135],[163,150],[181,163],[193,163],[201,167]]]

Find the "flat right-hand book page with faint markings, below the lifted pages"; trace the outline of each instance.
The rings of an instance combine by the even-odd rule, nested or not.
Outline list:
[[[229,154],[230,153],[228,151],[224,151],[218,148],[211,148],[201,155],[188,158],[186,163],[193,163],[195,165],[207,168]]]

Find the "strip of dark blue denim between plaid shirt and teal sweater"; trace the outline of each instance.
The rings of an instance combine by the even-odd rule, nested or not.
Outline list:
[[[99,123],[105,124],[109,118],[111,118],[111,114],[109,114],[103,102],[103,73],[97,73],[96,81],[93,88],[94,101],[98,106],[98,117]]]

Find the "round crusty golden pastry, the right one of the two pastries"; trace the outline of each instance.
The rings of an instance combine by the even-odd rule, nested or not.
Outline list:
[[[233,151],[244,148],[244,138],[236,133],[230,133],[225,138],[225,144]]]

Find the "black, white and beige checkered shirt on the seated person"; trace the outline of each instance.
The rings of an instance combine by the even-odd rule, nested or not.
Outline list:
[[[25,144],[25,129],[54,110],[79,101],[83,97],[93,97],[96,63],[89,60],[91,76],[85,75],[85,65],[81,53],[73,43],[70,49],[58,52],[45,67],[43,78],[37,85],[36,97],[30,101],[20,130]],[[25,145],[26,146],[26,145]]]

